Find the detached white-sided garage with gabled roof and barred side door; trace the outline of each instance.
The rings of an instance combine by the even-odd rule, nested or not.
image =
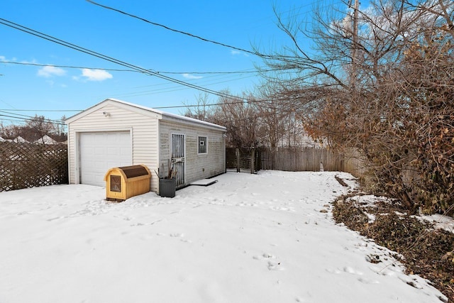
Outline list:
[[[70,184],[105,186],[112,167],[143,164],[150,190],[170,167],[177,188],[226,171],[226,128],[116,99],[106,99],[66,121]]]

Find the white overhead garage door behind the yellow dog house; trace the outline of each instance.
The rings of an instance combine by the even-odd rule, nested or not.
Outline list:
[[[106,186],[107,170],[133,164],[131,144],[129,131],[80,133],[80,183]]]

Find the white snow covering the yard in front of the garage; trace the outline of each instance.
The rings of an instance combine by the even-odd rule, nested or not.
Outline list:
[[[334,223],[329,203],[351,189],[335,175],[352,178],[227,172],[173,199],[150,192],[122,203],[88,185],[1,192],[0,302],[445,299],[404,275],[389,250]]]

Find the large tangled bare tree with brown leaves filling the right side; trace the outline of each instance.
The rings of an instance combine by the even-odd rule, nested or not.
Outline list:
[[[374,187],[412,210],[453,204],[452,180],[434,185],[431,192],[439,194],[428,197],[423,182],[409,177],[411,171],[443,180],[453,175],[452,159],[441,155],[452,149],[453,102],[446,100],[453,99],[453,6],[376,1],[365,11],[316,11],[311,28],[278,18],[292,45],[265,57],[268,67],[286,71],[270,81],[292,100],[311,136],[332,148],[360,150]],[[301,36],[314,41],[314,51],[302,48]],[[431,166],[430,159],[436,159]]]

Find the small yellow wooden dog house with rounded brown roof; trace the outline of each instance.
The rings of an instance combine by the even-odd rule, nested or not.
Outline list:
[[[150,170],[145,165],[114,167],[106,172],[106,199],[122,202],[150,192]]]

